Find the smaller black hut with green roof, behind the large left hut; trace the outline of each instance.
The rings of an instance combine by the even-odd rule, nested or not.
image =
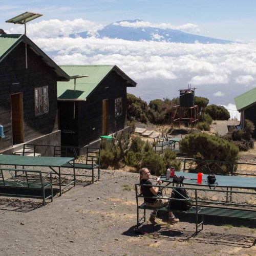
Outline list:
[[[126,88],[136,82],[117,66],[60,66],[70,76],[87,76],[58,82],[61,145],[85,146],[124,128]]]

